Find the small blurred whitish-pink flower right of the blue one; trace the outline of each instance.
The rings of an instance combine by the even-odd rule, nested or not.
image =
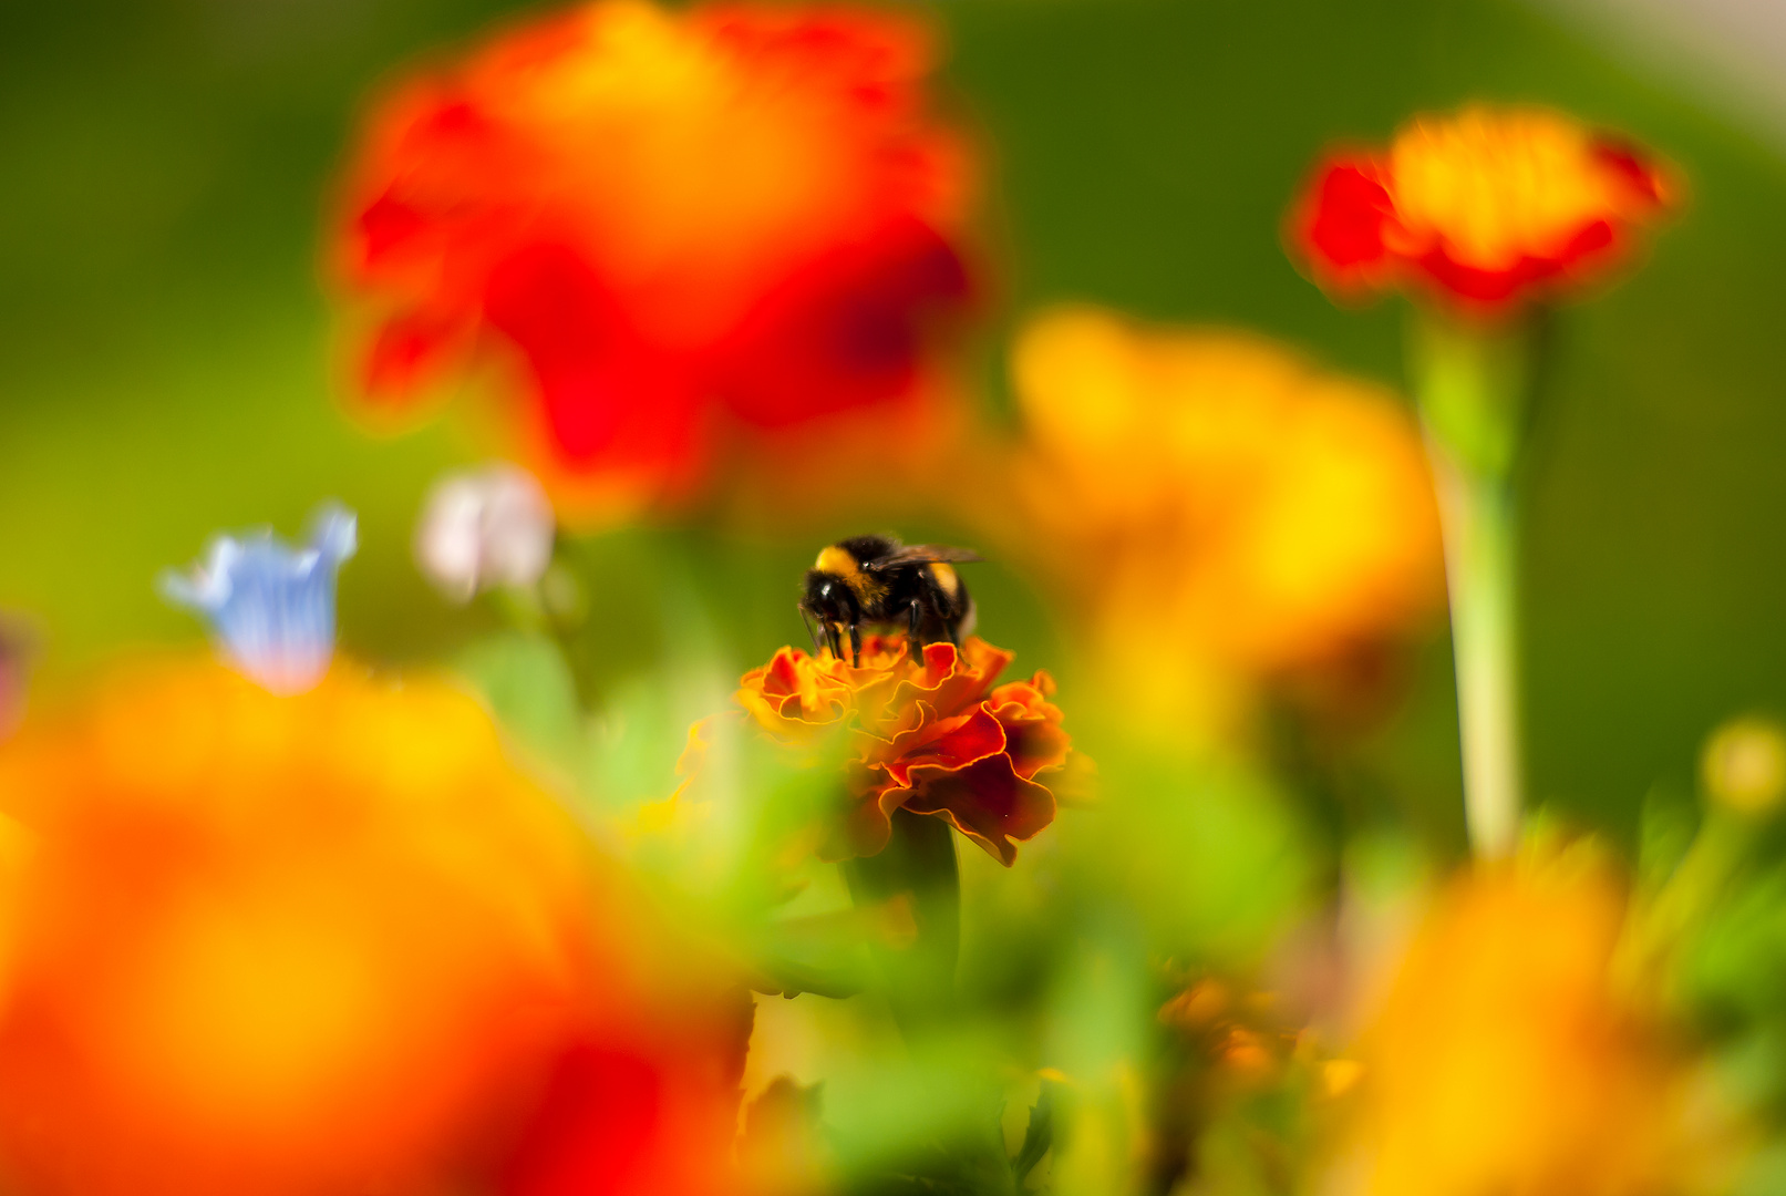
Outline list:
[[[443,594],[532,586],[552,562],[552,502],[518,466],[454,473],[429,493],[416,525],[416,564]]]

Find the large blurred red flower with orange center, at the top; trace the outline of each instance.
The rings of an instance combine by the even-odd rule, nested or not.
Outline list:
[[[966,298],[966,155],[909,18],[597,0],[425,71],[368,123],[334,257],[398,400],[491,345],[584,511],[759,441],[923,405]]]

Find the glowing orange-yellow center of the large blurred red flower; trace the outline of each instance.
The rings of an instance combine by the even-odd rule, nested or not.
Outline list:
[[[559,171],[541,186],[577,196],[611,277],[677,296],[661,336],[709,336],[764,273],[879,211],[832,91],[655,5],[589,5],[572,48],[513,79],[500,102]]]

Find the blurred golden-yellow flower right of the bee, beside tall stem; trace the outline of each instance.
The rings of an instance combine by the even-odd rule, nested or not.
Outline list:
[[[1025,439],[993,534],[1075,600],[1125,705],[1220,712],[1438,605],[1427,464],[1386,391],[1089,307],[1032,320],[1013,378]]]

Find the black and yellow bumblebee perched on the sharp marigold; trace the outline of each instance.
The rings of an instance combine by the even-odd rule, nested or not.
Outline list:
[[[916,657],[925,644],[959,644],[973,630],[973,600],[956,571],[981,557],[966,548],[900,544],[893,536],[852,536],[818,553],[805,571],[800,618],[818,652],[818,623],[830,655],[863,662],[863,625],[904,625]]]

